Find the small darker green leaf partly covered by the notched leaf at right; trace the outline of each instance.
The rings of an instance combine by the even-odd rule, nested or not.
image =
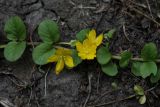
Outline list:
[[[132,67],[131,67],[131,72],[135,75],[135,76],[141,76],[140,73],[140,66],[142,65],[141,62],[133,62],[132,63]]]

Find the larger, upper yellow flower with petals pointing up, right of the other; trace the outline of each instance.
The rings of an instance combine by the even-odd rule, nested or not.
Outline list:
[[[81,57],[81,59],[83,60],[94,59],[96,57],[96,49],[102,43],[102,40],[103,40],[103,34],[100,34],[96,38],[96,31],[91,30],[87,38],[83,41],[83,43],[79,41],[76,43],[78,56]]]

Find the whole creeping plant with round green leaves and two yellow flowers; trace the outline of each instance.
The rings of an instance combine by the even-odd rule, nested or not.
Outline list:
[[[4,48],[6,60],[17,61],[23,55],[27,44],[34,44],[34,42],[28,43],[26,41],[26,27],[18,16],[12,17],[6,22],[4,31],[8,44],[0,45],[0,48]],[[76,34],[76,40],[60,42],[61,34],[58,24],[46,19],[38,26],[41,42],[35,44],[37,46],[32,52],[33,61],[37,65],[56,63],[55,72],[59,74],[64,66],[73,68],[79,65],[82,60],[96,58],[102,72],[108,76],[116,76],[118,68],[124,69],[131,65],[131,72],[135,76],[150,77],[152,83],[158,82],[160,80],[160,68],[157,63],[160,63],[160,59],[157,59],[159,55],[155,43],[146,43],[141,50],[140,57],[134,58],[128,50],[112,55],[106,41],[114,37],[115,31],[114,28],[96,37],[96,30],[83,29]],[[118,60],[119,63],[116,63],[115,60]]]

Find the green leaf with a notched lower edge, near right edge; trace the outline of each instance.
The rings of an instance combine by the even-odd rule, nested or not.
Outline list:
[[[140,73],[143,78],[146,78],[153,74],[157,74],[157,65],[155,62],[144,62],[140,67]]]

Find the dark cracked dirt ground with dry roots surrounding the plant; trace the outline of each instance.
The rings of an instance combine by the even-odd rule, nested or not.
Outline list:
[[[58,22],[62,41],[74,39],[83,28],[95,28],[98,33],[116,28],[110,41],[114,54],[129,49],[138,56],[150,41],[160,48],[160,0],[0,0],[0,44],[7,42],[4,23],[14,15],[25,21],[28,41],[29,37],[39,41],[37,25],[49,18]],[[2,107],[160,107],[160,86],[135,77],[130,67],[109,77],[96,61],[84,61],[56,76],[53,65],[36,66],[31,51],[28,47],[19,61],[10,63],[0,50]],[[117,90],[112,82],[117,83]],[[125,99],[134,94],[135,84],[145,90],[154,87],[144,105],[136,98]]]

